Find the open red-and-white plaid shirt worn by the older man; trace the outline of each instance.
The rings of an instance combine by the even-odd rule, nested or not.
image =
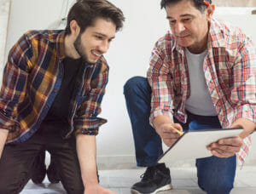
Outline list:
[[[212,19],[203,70],[223,128],[241,117],[255,123],[256,50],[252,40],[239,28]],[[184,48],[170,32],[155,43],[147,76],[152,88],[150,123],[159,115],[175,116],[185,123],[189,69]],[[251,137],[247,137],[237,154],[240,165],[250,145]]]

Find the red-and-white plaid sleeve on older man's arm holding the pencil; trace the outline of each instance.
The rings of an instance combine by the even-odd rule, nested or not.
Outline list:
[[[148,68],[148,83],[151,86],[151,114],[149,123],[152,124],[155,117],[165,115],[173,116],[173,87],[170,72],[170,60],[167,59],[165,41],[160,39],[155,43]]]

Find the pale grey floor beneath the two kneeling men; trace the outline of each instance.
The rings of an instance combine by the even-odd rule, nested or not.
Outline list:
[[[144,168],[101,170],[100,181],[105,187],[119,194],[129,194],[130,187],[139,180]],[[195,168],[171,168],[172,191],[162,191],[158,194],[204,194],[196,183]],[[34,185],[29,181],[21,194],[64,194],[61,184],[49,184],[47,178],[44,184]],[[231,194],[256,193],[256,167],[244,167],[236,171],[235,188]]]

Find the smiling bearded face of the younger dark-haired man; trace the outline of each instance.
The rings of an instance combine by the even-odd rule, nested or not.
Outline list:
[[[87,27],[82,33],[79,32],[73,42],[73,47],[80,57],[94,64],[102,54],[108,51],[115,31],[116,26],[112,21],[98,18],[94,26]]]

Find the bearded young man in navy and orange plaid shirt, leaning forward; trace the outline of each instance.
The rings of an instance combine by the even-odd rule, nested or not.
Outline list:
[[[102,54],[123,21],[106,0],[79,0],[65,31],[27,31],[15,43],[0,94],[0,193],[19,193],[44,149],[67,193],[113,193],[97,180],[96,134],[107,122],[97,115],[108,83]]]

